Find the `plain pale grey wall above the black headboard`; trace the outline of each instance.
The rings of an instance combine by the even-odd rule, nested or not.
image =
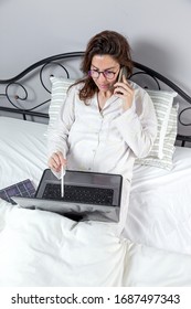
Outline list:
[[[191,94],[191,0],[0,0],[0,79],[116,30],[135,61]]]

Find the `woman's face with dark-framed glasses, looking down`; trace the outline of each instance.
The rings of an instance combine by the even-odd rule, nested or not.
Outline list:
[[[110,55],[95,55],[92,60],[89,75],[100,92],[113,92],[119,70],[119,63]]]

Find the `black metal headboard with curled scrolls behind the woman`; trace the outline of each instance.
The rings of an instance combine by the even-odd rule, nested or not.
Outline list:
[[[0,79],[0,99],[2,100],[2,104],[0,104],[0,111],[21,114],[23,119],[26,119],[28,116],[49,118],[47,111],[43,110],[47,109],[49,103],[51,100],[51,86],[49,81],[50,75],[55,75],[55,68],[57,67],[60,71],[62,71],[62,74],[60,75],[67,78],[73,77],[71,76],[71,71],[75,75],[79,74],[79,65],[76,65],[74,68],[74,60],[78,62],[82,60],[83,55],[84,52],[72,52],[53,55],[32,64],[14,77]],[[134,67],[135,72],[131,78],[135,78],[135,76],[137,77],[138,75],[141,75],[141,78],[142,76],[149,76],[149,78],[151,77],[152,82],[156,83],[158,89],[161,88],[161,82],[170,89],[177,92],[180,98],[187,102],[188,106],[181,109],[179,114],[179,122],[182,126],[191,126],[191,122],[185,124],[182,119],[182,115],[191,109],[191,96],[189,96],[173,82],[152,68],[138,62],[134,62]],[[81,77],[81,75],[77,77]],[[32,89],[30,86],[31,78],[35,79],[34,89]],[[36,83],[39,83],[38,86]],[[36,87],[40,87],[39,92],[43,98],[39,99],[35,97],[34,93]],[[149,88],[147,85],[144,87]],[[33,94],[32,98],[31,93]],[[178,135],[177,139],[182,141],[182,146],[185,141],[191,142],[191,136]]]

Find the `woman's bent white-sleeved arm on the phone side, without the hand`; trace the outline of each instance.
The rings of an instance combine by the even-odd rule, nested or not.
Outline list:
[[[116,126],[135,156],[148,156],[157,137],[157,117],[150,96],[142,92],[135,94],[132,106],[116,120]]]

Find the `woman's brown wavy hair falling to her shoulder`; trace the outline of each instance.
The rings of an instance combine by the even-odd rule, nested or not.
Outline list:
[[[95,55],[109,55],[125,66],[127,70],[127,77],[132,73],[132,61],[130,55],[130,45],[127,39],[118,32],[105,30],[93,36],[87,43],[87,47],[82,61],[81,71],[84,78],[79,79],[76,84],[84,83],[79,90],[79,99],[86,104],[97,92],[97,86],[93,78],[88,76],[92,60]]]

